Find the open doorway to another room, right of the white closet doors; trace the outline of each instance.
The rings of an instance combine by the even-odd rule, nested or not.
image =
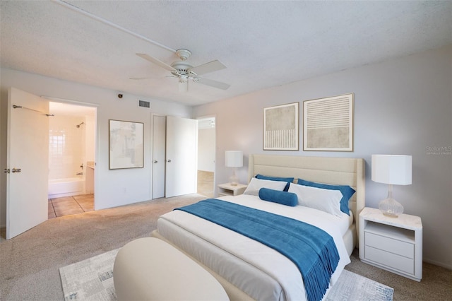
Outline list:
[[[215,194],[215,117],[198,119],[198,194]]]

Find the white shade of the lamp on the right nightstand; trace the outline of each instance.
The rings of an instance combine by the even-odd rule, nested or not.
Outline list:
[[[394,184],[411,184],[410,155],[372,155],[372,181]]]

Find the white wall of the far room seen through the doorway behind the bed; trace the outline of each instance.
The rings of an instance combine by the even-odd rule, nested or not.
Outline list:
[[[198,170],[215,172],[215,128],[198,130]]]

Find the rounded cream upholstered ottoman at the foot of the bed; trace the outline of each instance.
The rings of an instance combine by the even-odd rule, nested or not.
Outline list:
[[[118,300],[229,300],[208,271],[154,237],[119,249],[113,281]]]

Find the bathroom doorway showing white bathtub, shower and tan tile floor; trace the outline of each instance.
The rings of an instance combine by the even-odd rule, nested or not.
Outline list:
[[[49,102],[49,218],[93,211],[96,108]]]

